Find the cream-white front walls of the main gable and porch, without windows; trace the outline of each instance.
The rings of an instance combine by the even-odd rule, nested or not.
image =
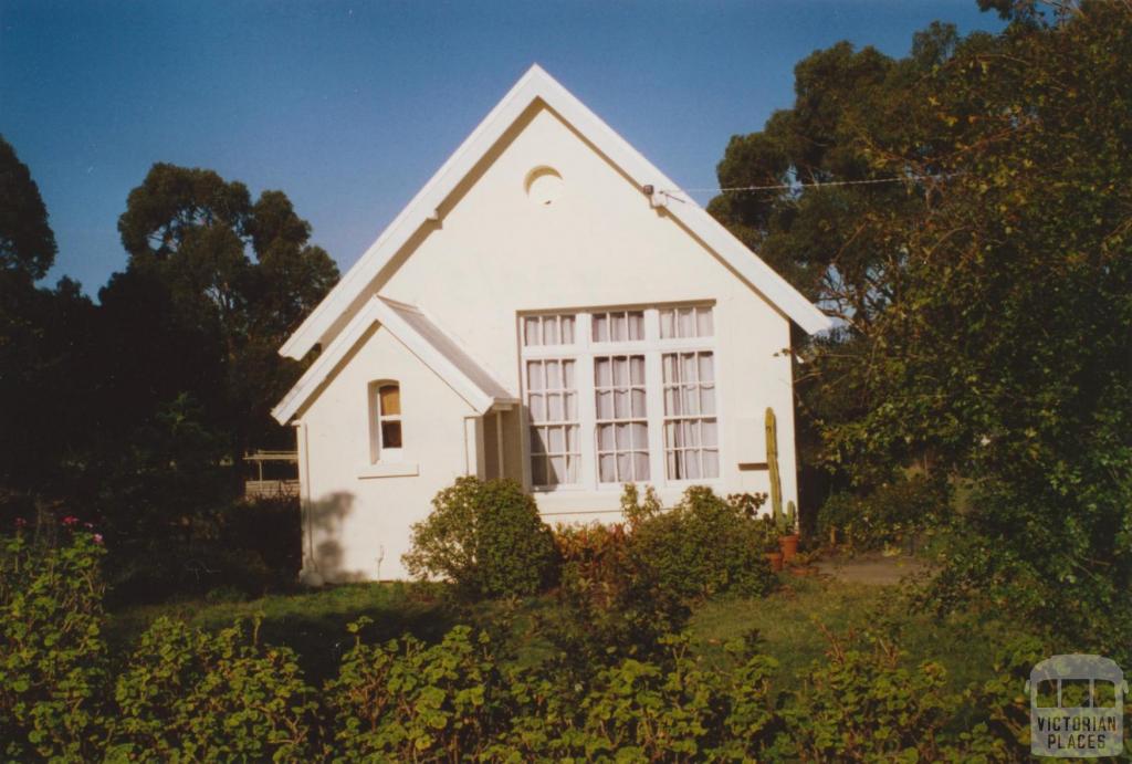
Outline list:
[[[503,144],[369,293],[423,309],[516,395],[521,311],[713,300],[721,477],[707,484],[720,493],[769,490],[765,471],[740,471],[738,463],[762,461],[763,412],[771,406],[783,501],[797,501],[790,361],[779,353],[789,346],[788,320],[549,110],[532,106]],[[563,178],[549,206],[525,191],[528,173],[539,166]],[[369,453],[366,387],[380,378],[402,380],[405,453],[419,463],[418,477],[360,477]],[[315,546],[337,544],[343,573],[372,577],[383,544],[381,576],[403,575],[409,524],[462,472],[463,418],[471,413],[387,332],[363,341],[300,413],[314,506],[350,497],[349,512],[333,531],[317,531]],[[517,475],[520,417],[506,421],[505,464]],[[658,483],[666,501],[678,498],[679,488]],[[551,523],[618,517],[617,491],[564,489],[537,498]]]

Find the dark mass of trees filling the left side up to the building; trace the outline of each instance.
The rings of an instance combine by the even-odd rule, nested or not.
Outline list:
[[[282,191],[254,203],[214,172],[156,164],[119,222],[129,263],[94,304],[66,278],[36,287],[54,240],[7,144],[0,186],[0,513],[82,507],[69,512],[113,550],[117,598],[259,591],[275,569],[265,560],[282,570],[293,544],[280,533],[267,548],[231,516],[240,456],[293,446],[269,410],[301,364],[276,350],[333,285],[334,263]]]

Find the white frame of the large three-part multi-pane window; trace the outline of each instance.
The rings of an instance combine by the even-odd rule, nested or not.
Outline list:
[[[660,336],[660,311],[686,307],[710,308],[712,310],[712,336],[706,337],[670,337]],[[644,311],[644,340],[623,342],[594,342],[592,338],[593,314],[642,310]],[[531,316],[574,316],[574,342],[559,345],[526,346],[523,335],[523,319]],[[649,480],[643,483],[660,488],[686,488],[688,486],[719,486],[723,480],[724,446],[723,446],[723,395],[721,383],[722,363],[719,353],[719,311],[714,300],[681,301],[671,303],[636,304],[636,306],[600,306],[566,310],[523,311],[518,319],[520,378],[524,401],[523,415],[523,474],[529,489],[537,493],[571,493],[580,491],[618,492],[623,483],[608,483],[599,480],[598,470],[598,429],[597,429],[597,395],[593,377],[594,358],[604,355],[644,355],[645,359],[645,421],[649,426]],[[664,454],[664,381],[661,359],[666,353],[710,352],[714,368],[715,387],[715,427],[717,449],[719,452],[719,474],[715,478],[669,479]],[[580,480],[576,483],[557,486],[535,486],[531,471],[530,414],[528,401],[528,361],[572,359],[574,360],[575,389],[578,401],[580,445],[582,453]]]

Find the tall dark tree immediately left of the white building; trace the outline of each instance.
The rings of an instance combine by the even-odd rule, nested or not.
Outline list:
[[[265,549],[233,518],[278,514],[233,509],[240,458],[293,447],[269,411],[301,364],[276,351],[337,268],[283,192],[252,203],[208,170],[155,164],[119,230],[129,263],[100,293],[86,369],[94,436],[62,492],[105,530],[118,599],[261,591],[292,544]]]

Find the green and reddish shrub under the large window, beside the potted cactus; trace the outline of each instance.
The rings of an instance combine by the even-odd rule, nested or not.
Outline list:
[[[655,650],[680,630],[691,607],[721,593],[761,595],[773,585],[763,556],[765,523],[749,503],[688,489],[663,509],[655,495],[626,486],[628,524],[559,526],[559,608],[546,630],[593,667]]]

